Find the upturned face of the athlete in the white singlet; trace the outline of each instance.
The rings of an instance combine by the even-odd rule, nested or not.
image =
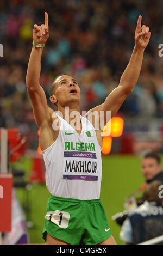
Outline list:
[[[61,106],[67,106],[70,103],[80,103],[80,88],[78,82],[71,76],[63,75],[57,78],[55,82],[55,97]]]

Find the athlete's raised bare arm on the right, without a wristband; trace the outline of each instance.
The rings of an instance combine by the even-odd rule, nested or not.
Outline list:
[[[133,91],[140,75],[143,53],[151,36],[149,27],[145,25],[141,27],[141,19],[142,17],[139,16],[135,30],[135,47],[118,87],[112,90],[102,105],[91,109],[91,111],[111,111],[111,117],[114,117],[128,94]]]

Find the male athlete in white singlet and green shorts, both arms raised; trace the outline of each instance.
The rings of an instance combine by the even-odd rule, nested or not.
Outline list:
[[[106,112],[111,111],[111,117],[117,113],[139,77],[143,52],[151,36],[149,27],[141,27],[141,19],[139,16],[135,47],[118,87],[102,105],[91,110],[98,115],[105,113],[104,124]],[[47,203],[43,238],[47,245],[116,245],[99,199],[103,127],[99,125],[100,129],[95,129],[95,118],[89,120],[90,111],[85,117],[80,115],[80,88],[72,76],[60,75],[55,79],[50,100],[57,105],[58,112],[48,107],[39,83],[41,54],[48,36],[48,14],[45,13],[45,23],[34,25],[26,78],[36,124],[40,129],[46,185],[52,195]],[[69,109],[68,119],[65,107]]]

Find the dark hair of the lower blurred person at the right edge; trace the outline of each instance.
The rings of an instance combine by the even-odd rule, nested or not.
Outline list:
[[[161,181],[155,180],[149,183],[145,190],[145,200],[148,202],[156,201],[162,203],[162,198],[159,198],[159,186],[163,185]]]

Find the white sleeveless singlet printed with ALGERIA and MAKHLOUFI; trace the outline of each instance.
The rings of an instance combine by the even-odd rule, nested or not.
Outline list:
[[[79,135],[65,119],[57,116],[60,119],[58,138],[42,151],[48,191],[56,197],[99,199],[102,159],[93,125],[81,115]]]

